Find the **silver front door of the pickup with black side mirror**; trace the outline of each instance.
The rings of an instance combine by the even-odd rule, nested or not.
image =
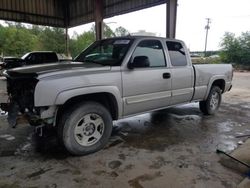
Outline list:
[[[133,68],[122,71],[124,116],[163,108],[171,99],[171,73],[160,40],[137,42],[130,58]],[[148,65],[140,66],[140,60]]]

